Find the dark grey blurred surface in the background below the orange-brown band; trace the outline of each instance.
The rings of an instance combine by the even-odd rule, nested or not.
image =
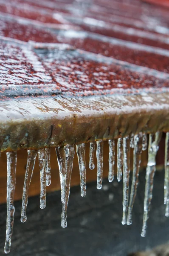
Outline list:
[[[91,171],[93,172],[93,171]],[[80,186],[70,189],[68,227],[61,221],[60,192],[47,194],[47,206],[39,209],[39,197],[28,199],[27,221],[20,222],[21,201],[15,202],[14,233],[10,255],[47,256],[127,256],[169,240],[169,218],[163,205],[164,172],[156,172],[147,236],[141,238],[145,172],[140,174],[138,193],[133,207],[133,224],[123,226],[122,181],[103,180],[101,190],[96,182],[87,184],[85,198]],[[0,211],[0,253],[3,255],[6,228],[6,205]]]

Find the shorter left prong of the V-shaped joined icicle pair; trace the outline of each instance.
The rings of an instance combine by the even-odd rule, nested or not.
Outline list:
[[[65,204],[66,195],[66,161],[65,161],[65,148],[57,147],[55,148],[57,161],[59,166],[59,177],[60,177],[60,187],[61,187],[61,202]]]

